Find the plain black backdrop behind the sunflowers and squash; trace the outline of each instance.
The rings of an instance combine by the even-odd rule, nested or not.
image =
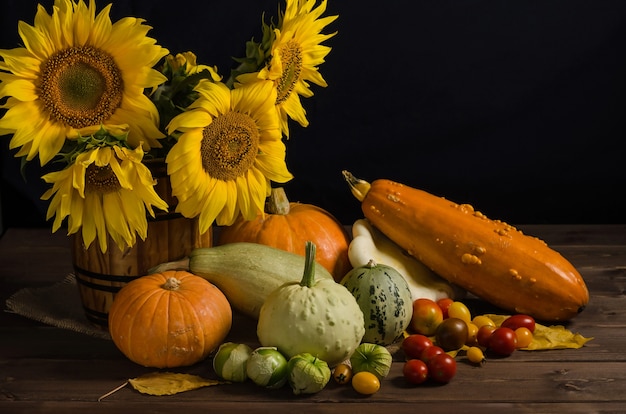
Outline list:
[[[225,74],[278,1],[119,0],[112,17],[145,18],[161,45]],[[12,48],[36,2],[0,4]],[[293,201],[362,217],[348,169],[513,224],[626,222],[626,1],[329,0],[331,14],[329,86],[313,87],[311,124],[292,124],[287,144]],[[31,163],[24,182],[0,140],[5,226],[48,225],[41,171]]]

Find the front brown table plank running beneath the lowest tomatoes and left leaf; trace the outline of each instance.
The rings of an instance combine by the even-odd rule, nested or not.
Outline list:
[[[119,359],[92,361],[76,364],[72,360],[41,361],[23,359],[10,362],[9,377],[0,384],[2,394],[11,395],[19,401],[85,401],[97,402],[98,398],[116,388],[128,378],[135,378],[146,371]],[[389,376],[382,382],[381,390],[371,397],[380,403],[403,401],[415,404],[424,402],[587,402],[626,401],[626,362],[554,362],[519,361],[514,359],[492,360],[488,365],[476,367],[459,363],[457,376],[446,385],[410,386],[402,377],[402,364],[394,364]],[[19,368],[19,377],[11,372]],[[214,374],[207,363],[190,370],[207,378]],[[125,387],[107,400],[137,402],[159,397],[146,396]],[[222,384],[180,393],[167,397],[171,402],[233,400],[272,403],[276,400],[301,401],[285,386],[278,390],[266,390],[251,382]],[[307,401],[358,402],[363,397],[350,386],[334,383],[320,393],[306,396]]]

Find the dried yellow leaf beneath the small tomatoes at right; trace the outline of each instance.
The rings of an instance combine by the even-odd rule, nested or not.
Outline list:
[[[509,315],[486,315],[496,324],[500,326]],[[535,332],[533,332],[533,340],[526,348],[527,351],[539,351],[544,349],[566,349],[581,348],[593,338],[585,338],[579,333],[573,333],[562,325],[545,326],[535,323]]]

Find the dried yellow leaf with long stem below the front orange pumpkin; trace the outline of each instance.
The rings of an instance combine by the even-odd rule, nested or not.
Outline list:
[[[173,395],[221,383],[221,381],[209,380],[197,375],[173,372],[153,372],[129,379],[128,382],[140,393],[150,395]]]

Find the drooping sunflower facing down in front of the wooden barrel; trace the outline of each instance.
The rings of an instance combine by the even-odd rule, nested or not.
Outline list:
[[[82,152],[61,171],[42,178],[53,187],[41,197],[52,198],[47,219],[55,216],[52,231],[68,217],[68,234],[82,228],[85,246],[97,237],[100,250],[107,251],[107,234],[120,250],[132,247],[138,234],[148,230],[146,210],[154,217],[153,206],[167,211],[167,203],[154,191],[154,180],[141,161],[143,150],[120,145],[96,147]]]

